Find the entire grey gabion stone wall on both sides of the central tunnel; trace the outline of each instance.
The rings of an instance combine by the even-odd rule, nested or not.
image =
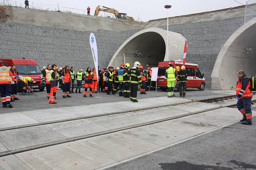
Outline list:
[[[206,87],[211,87],[211,74],[221,46],[240,26],[243,17],[199,23],[170,25],[169,31],[188,39],[187,61],[197,63],[205,74]],[[166,29],[166,27],[160,27]],[[107,67],[116,50],[131,35],[140,31],[113,32],[98,30],[100,67]],[[89,45],[91,32],[79,32],[18,23],[0,23],[0,57],[34,58],[40,67],[47,63],[74,66],[76,70],[93,66]]]

